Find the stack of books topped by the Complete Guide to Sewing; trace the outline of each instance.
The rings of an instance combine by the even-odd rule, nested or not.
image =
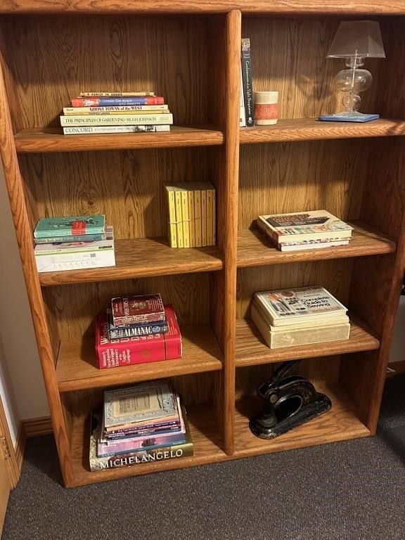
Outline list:
[[[347,308],[320,285],[255,293],[250,316],[271,349],[349,339]]]

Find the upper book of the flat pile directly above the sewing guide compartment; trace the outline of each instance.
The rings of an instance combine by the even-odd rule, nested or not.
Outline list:
[[[326,210],[269,214],[257,218],[257,225],[275,243],[303,240],[345,240],[352,236],[353,227]]]

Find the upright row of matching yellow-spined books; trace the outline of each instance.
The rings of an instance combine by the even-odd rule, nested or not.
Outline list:
[[[181,182],[165,186],[167,236],[172,248],[216,245],[216,196],[210,182]]]

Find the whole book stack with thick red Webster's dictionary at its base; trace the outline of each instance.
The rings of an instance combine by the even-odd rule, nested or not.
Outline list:
[[[113,298],[111,309],[97,316],[100,369],[178,359],[182,347],[174,309],[159,294]]]

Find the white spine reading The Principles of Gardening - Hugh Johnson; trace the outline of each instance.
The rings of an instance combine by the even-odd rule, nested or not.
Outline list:
[[[172,113],[164,115],[94,115],[94,116],[60,116],[60,125],[79,126],[130,126],[130,125],[173,124]]]

